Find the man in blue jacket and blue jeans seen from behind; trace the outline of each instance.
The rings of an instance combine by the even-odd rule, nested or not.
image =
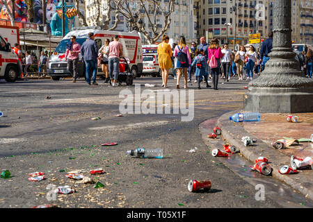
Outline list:
[[[96,81],[97,77],[97,54],[98,54],[98,47],[95,43],[95,35],[93,33],[88,33],[88,40],[83,42],[81,46],[81,56],[83,56],[83,60],[85,60],[86,65],[86,82],[88,85],[90,84],[89,78],[89,69],[92,69],[93,77],[93,85],[98,85]]]

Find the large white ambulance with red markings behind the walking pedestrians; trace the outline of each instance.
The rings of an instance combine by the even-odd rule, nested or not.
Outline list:
[[[123,56],[128,58],[131,73],[134,77],[140,77],[143,72],[143,52],[141,37],[135,31],[119,32],[119,31],[105,31],[98,27],[81,27],[73,28],[73,31],[67,33],[63,40],[56,46],[56,50],[52,54],[48,65],[47,73],[53,80],[59,80],[67,76],[72,76],[69,70],[67,70],[67,62],[65,61],[65,53],[67,49],[67,43],[70,42],[70,37],[72,35],[76,36],[76,42],[80,45],[83,44],[88,39],[88,33],[94,33],[95,42],[97,43],[98,49],[105,44],[105,40],[111,39],[114,35],[118,35],[119,42],[122,44]],[[85,64],[81,53],[79,53],[79,62],[77,65],[77,71],[79,77],[85,77]],[[101,67],[98,67],[97,76],[105,78]]]

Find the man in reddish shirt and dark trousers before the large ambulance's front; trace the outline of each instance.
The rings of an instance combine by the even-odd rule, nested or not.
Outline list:
[[[80,51],[81,45],[78,42],[76,42],[76,36],[72,35],[70,42],[67,44],[65,61],[67,60],[67,70],[70,71],[73,76],[73,83],[76,83],[78,76],[77,63],[79,61]]]

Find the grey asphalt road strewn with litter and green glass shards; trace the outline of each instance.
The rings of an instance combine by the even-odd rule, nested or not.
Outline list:
[[[271,196],[255,200],[255,186],[223,162],[212,161],[210,149],[202,141],[198,130],[202,121],[243,107],[243,86],[248,82],[223,82],[220,80],[218,91],[204,84],[199,90],[191,83],[189,89],[194,91],[187,92],[194,92],[194,100],[188,104],[194,105],[194,117],[182,121],[186,114],[181,112],[115,117],[120,114],[121,102],[136,94],[134,85],[110,87],[103,80],[97,86],[88,86],[83,80],[1,81],[0,110],[4,117],[0,118],[0,170],[10,170],[13,177],[0,179],[0,207],[45,203],[59,207],[282,207]],[[136,78],[134,83],[152,99],[160,92],[175,92],[170,91],[175,89],[172,77],[166,91],[161,88],[161,78]],[[145,83],[157,86],[145,87]],[[147,104],[143,98],[141,102]],[[178,107],[177,101],[156,104],[157,108]],[[118,145],[100,146],[105,142]],[[126,154],[138,147],[163,148],[164,157],[138,159]],[[188,152],[195,147],[197,152]],[[89,176],[102,182],[104,188],[65,177],[68,171],[97,168],[106,173]],[[45,172],[47,179],[29,181],[28,174],[35,171]],[[191,179],[210,179],[211,190],[189,192],[187,183]],[[76,192],[57,194],[56,200],[49,201],[48,185],[70,185]]]

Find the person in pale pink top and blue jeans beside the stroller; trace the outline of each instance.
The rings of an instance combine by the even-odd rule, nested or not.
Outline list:
[[[112,86],[115,86],[118,82],[118,74],[120,73],[120,57],[122,56],[122,44],[118,42],[118,35],[115,35],[113,37],[113,41],[109,44],[109,75],[111,78]]]

